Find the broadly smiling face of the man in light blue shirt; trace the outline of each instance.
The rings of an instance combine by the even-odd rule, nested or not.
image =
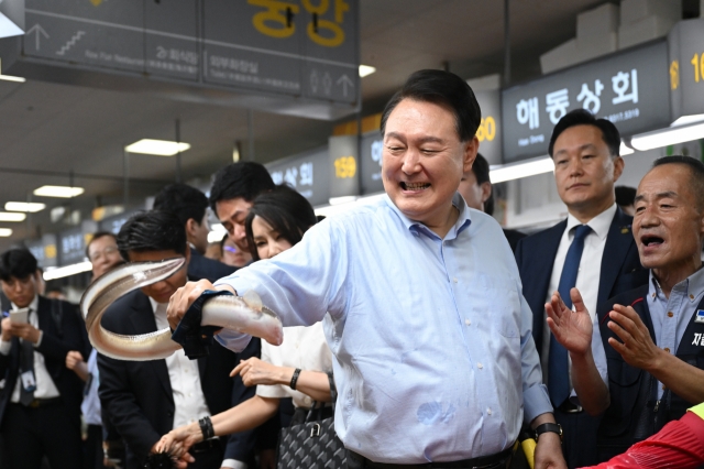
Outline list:
[[[384,189],[406,217],[442,231],[449,228],[452,196],[477,150],[476,137],[460,141],[448,108],[404,99],[386,121]]]

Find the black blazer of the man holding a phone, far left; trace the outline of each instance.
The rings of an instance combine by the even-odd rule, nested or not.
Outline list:
[[[52,315],[54,303],[56,318]],[[73,424],[80,421],[80,403],[82,401],[84,382],[72,370],[66,368],[66,353],[78,350],[88,359],[88,339],[86,325],[76,312],[76,307],[67,302],[38,297],[38,328],[42,330],[42,342],[35,349],[44,356],[46,371],[52,377],[67,408]],[[3,377],[4,388],[0,391],[0,422],[12,397],[12,392],[20,371],[20,339],[12,338],[10,353],[0,355],[0,377]]]

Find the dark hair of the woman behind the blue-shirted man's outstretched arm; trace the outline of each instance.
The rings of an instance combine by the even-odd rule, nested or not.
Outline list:
[[[256,252],[252,232],[254,217],[262,217],[292,246],[298,243],[304,233],[308,231],[308,228],[318,222],[310,203],[292,187],[282,184],[276,186],[274,190],[262,194],[254,199],[250,214],[244,221],[246,243],[255,261],[260,260],[260,255]]]

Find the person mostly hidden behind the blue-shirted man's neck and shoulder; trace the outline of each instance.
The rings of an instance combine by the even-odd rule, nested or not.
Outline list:
[[[480,153],[476,154],[472,170],[462,175],[458,190],[470,208],[494,215],[494,194],[490,181],[488,163]],[[504,229],[504,234],[514,252],[516,252],[518,241],[526,237],[520,231],[509,229]]]

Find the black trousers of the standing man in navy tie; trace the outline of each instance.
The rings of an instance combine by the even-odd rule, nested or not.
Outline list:
[[[596,466],[602,462],[596,450],[596,432],[602,422],[601,417],[592,417],[586,412],[570,414],[556,408],[554,419],[562,425],[562,452],[568,468]]]

